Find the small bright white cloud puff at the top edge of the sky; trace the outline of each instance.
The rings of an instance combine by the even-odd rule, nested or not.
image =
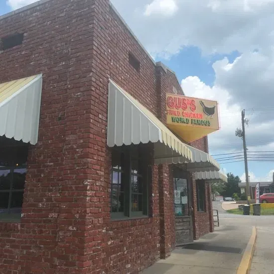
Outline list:
[[[178,10],[175,0],[153,0],[145,6],[144,15],[172,16]]]

